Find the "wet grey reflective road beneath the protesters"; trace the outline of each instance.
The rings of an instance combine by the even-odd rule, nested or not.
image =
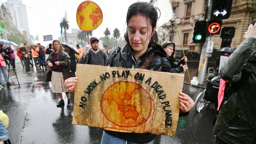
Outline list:
[[[0,110],[9,116],[9,137],[13,144],[100,144],[102,129],[72,125],[72,108],[57,108],[57,94],[50,91],[42,71],[25,72],[17,60],[18,85],[0,91]],[[12,72],[13,73],[13,72]],[[15,75],[11,77],[15,83]],[[203,89],[184,84],[184,92],[195,100]],[[74,94],[71,94],[74,102]],[[158,136],[154,144],[213,144],[214,109],[195,109],[189,116],[180,117],[175,137]]]

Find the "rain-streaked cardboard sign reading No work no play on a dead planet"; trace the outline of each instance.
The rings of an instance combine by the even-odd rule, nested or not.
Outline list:
[[[175,135],[184,74],[77,64],[73,124]]]

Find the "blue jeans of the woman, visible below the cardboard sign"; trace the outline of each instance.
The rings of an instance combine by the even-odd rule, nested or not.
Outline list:
[[[114,137],[112,135],[109,135],[105,131],[103,131],[103,135],[101,138],[101,144],[125,144],[126,140]],[[127,140],[127,144],[137,144],[135,142],[130,142]],[[146,144],[153,144],[153,140],[151,142],[148,142]]]

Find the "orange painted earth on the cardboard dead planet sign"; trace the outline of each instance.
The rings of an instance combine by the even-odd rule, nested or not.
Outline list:
[[[104,116],[117,126],[139,126],[150,116],[151,98],[139,84],[119,81],[102,94],[101,109]]]

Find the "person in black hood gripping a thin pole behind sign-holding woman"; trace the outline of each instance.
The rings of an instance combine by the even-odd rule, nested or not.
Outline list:
[[[187,57],[182,57],[180,61],[177,63],[175,62],[176,59],[174,58],[174,52],[175,52],[175,44],[170,41],[163,42],[162,46],[163,50],[165,50],[167,57],[166,59],[169,61],[171,65],[171,72],[172,73],[180,73],[185,72],[187,70],[187,65],[185,62],[187,62]]]

